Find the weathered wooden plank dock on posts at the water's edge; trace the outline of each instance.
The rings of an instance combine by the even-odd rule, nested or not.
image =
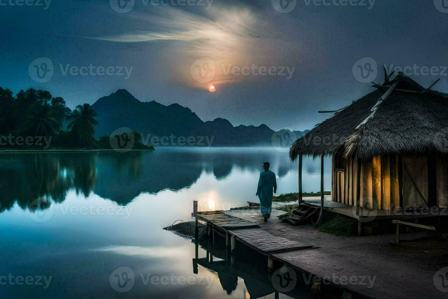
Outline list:
[[[283,211],[272,209],[271,219],[269,221],[279,221],[276,216],[283,214]],[[215,244],[216,234],[225,238],[226,253],[225,260],[227,264],[233,264],[232,255],[235,252],[236,243],[241,243],[251,250],[267,257],[267,268],[274,269],[274,265],[283,265],[293,268],[297,273],[302,273],[303,277],[311,277],[314,279],[318,277],[327,285],[340,289],[345,298],[352,298],[352,295],[358,295],[362,298],[381,298],[375,294],[373,290],[367,290],[357,286],[339,285],[326,277],[319,276],[307,269],[303,269],[300,264],[294,260],[295,256],[306,256],[310,250],[315,250],[315,247],[309,244],[302,244],[290,238],[283,238],[270,234],[260,227],[258,223],[264,223],[263,217],[257,207],[243,207],[236,208],[230,211],[208,211],[193,213],[197,227],[198,221],[203,221],[207,224],[207,234],[209,239]],[[269,223],[268,221],[268,223]],[[198,260],[198,244],[196,244],[196,261]],[[207,263],[213,260],[213,251],[207,251]],[[202,261],[204,262],[204,261]],[[194,262],[195,273],[197,271],[197,264]],[[297,274],[297,277],[299,275]],[[312,283],[310,286],[311,289]]]

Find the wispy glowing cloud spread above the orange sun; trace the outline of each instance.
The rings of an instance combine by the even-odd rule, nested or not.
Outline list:
[[[138,12],[129,17],[135,29],[114,35],[84,37],[116,43],[178,43],[174,48],[173,43],[169,43],[170,49],[167,51],[170,57],[160,54],[161,59],[167,61],[167,67],[162,72],[169,72],[164,77],[172,82],[189,87],[207,87],[207,84],[196,82],[190,73],[192,63],[202,57],[210,57],[216,67],[214,80],[208,84],[251,78],[228,74],[224,69],[229,66],[297,64],[296,46],[279,39],[278,33],[272,32],[273,26],[261,12],[254,13],[247,6],[214,6],[204,13],[199,15],[172,7],[151,9],[151,13]],[[289,53],[288,57],[284,53]]]

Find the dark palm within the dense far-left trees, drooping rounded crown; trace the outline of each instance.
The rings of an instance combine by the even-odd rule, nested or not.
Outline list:
[[[30,127],[35,129],[36,136],[53,136],[60,132],[60,125],[51,117],[51,107],[48,104],[37,106],[29,117]]]

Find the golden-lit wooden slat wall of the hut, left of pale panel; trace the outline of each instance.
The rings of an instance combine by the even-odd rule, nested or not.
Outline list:
[[[375,156],[367,161],[345,159],[344,172],[333,168],[332,174],[335,202],[380,210],[400,206],[396,155]]]

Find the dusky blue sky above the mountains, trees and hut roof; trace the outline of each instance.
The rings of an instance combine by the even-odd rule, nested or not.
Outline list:
[[[331,116],[318,110],[373,90],[360,81],[382,83],[383,64],[411,67],[407,75],[424,87],[440,78],[434,88],[448,92],[447,0],[36,1],[0,0],[0,86],[48,90],[70,108],[125,88],[141,101],[187,106],[203,121],[305,130]],[[49,80],[36,77],[43,57],[53,68],[39,74]],[[209,59],[215,76],[195,77]],[[252,65],[255,73],[226,73]],[[357,73],[362,67],[371,78]]]

